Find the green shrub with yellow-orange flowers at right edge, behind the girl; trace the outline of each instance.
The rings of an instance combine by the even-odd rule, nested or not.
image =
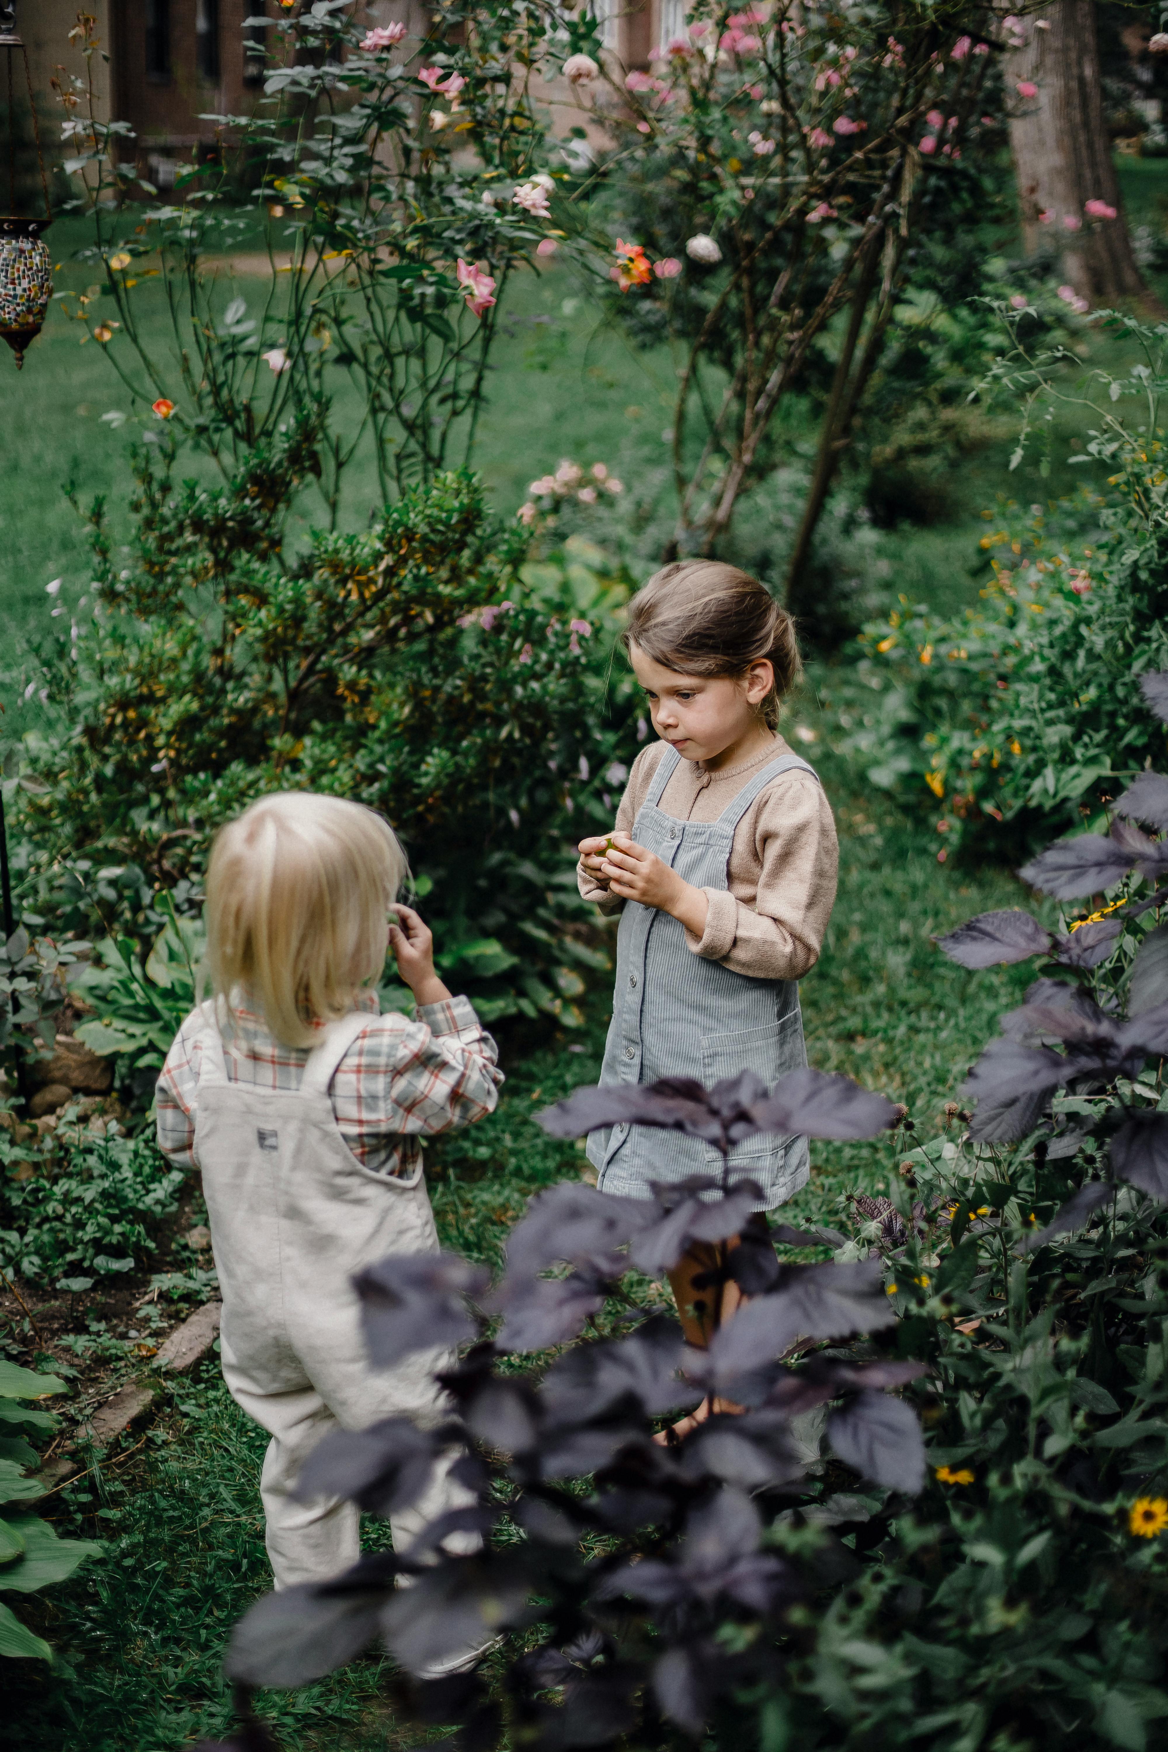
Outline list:
[[[928,806],[944,844],[986,820],[1017,822],[1024,836],[1073,825],[1163,757],[1138,678],[1168,662],[1168,333],[1122,329],[1138,357],[1128,377],[1091,373],[1108,399],[1080,457],[1114,468],[1107,489],[1030,513],[1003,506],[981,538],[979,603],[947,620],[902,597],[865,625],[863,655],[841,676],[848,750],[872,783]],[[1051,361],[1068,357],[1056,349],[1005,380],[1054,399]]]

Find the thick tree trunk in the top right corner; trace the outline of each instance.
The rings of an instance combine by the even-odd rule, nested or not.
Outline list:
[[[1007,49],[1003,72],[1026,252],[1054,247],[1066,282],[1089,305],[1135,301],[1163,315],[1136,266],[1119,200],[1094,0],[1052,0],[1044,19],[1047,30],[1033,16],[1005,28],[1007,42],[1024,39],[1023,47]],[[1037,96],[1017,91],[1026,82],[1038,88]],[[1105,201],[1115,217],[1093,217],[1087,201]]]

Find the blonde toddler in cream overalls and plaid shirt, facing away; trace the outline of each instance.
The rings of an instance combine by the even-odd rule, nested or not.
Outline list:
[[[317,1442],[443,1412],[436,1354],[369,1368],[352,1277],[438,1251],[420,1139],[482,1120],[503,1081],[471,1004],[434,974],[429,930],[396,904],[405,874],[387,822],[340,797],[264,797],[224,827],[207,872],[214,997],[158,1081],[159,1146],[203,1172],[224,1381],[271,1433],[261,1496],[277,1587],[361,1554],[352,1503],[292,1496]],[[413,1020],[378,1014],[387,946]],[[391,1515],[394,1547],[464,1500],[436,1477]]]

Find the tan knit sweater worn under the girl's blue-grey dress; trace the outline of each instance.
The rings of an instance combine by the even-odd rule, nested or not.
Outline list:
[[[667,746],[651,743],[634,760],[616,811],[618,832],[632,832]],[[716,822],[758,767],[792,750],[776,736],[753,760],[716,773],[679,760],[660,808],[679,822]],[[704,890],[706,930],[700,937],[686,930],[685,941],[695,955],[755,979],[802,979],[820,958],[837,867],[835,822],[823,788],[809,773],[781,773],[737,825],[728,890]],[[583,864],[576,865],[576,880],[585,901],[595,901],[602,913],[620,913],[625,902],[594,881]]]

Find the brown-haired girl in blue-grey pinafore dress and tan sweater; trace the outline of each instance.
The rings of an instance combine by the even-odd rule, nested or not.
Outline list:
[[[622,915],[601,1083],[755,1070],[772,1084],[807,1062],[799,979],[837,871],[830,804],[776,732],[799,678],[795,625],[735,566],[679,561],[632,597],[623,643],[660,741],[637,755],[613,834],[580,844],[581,895]],[[720,1167],[700,1139],[646,1127],[595,1132],[588,1155],[599,1186],[630,1198]],[[807,1141],[749,1139],[730,1172],[770,1211],[806,1183]],[[711,1265],[714,1249],[695,1246],[671,1274],[692,1344],[737,1302],[734,1284],[693,1284]]]

